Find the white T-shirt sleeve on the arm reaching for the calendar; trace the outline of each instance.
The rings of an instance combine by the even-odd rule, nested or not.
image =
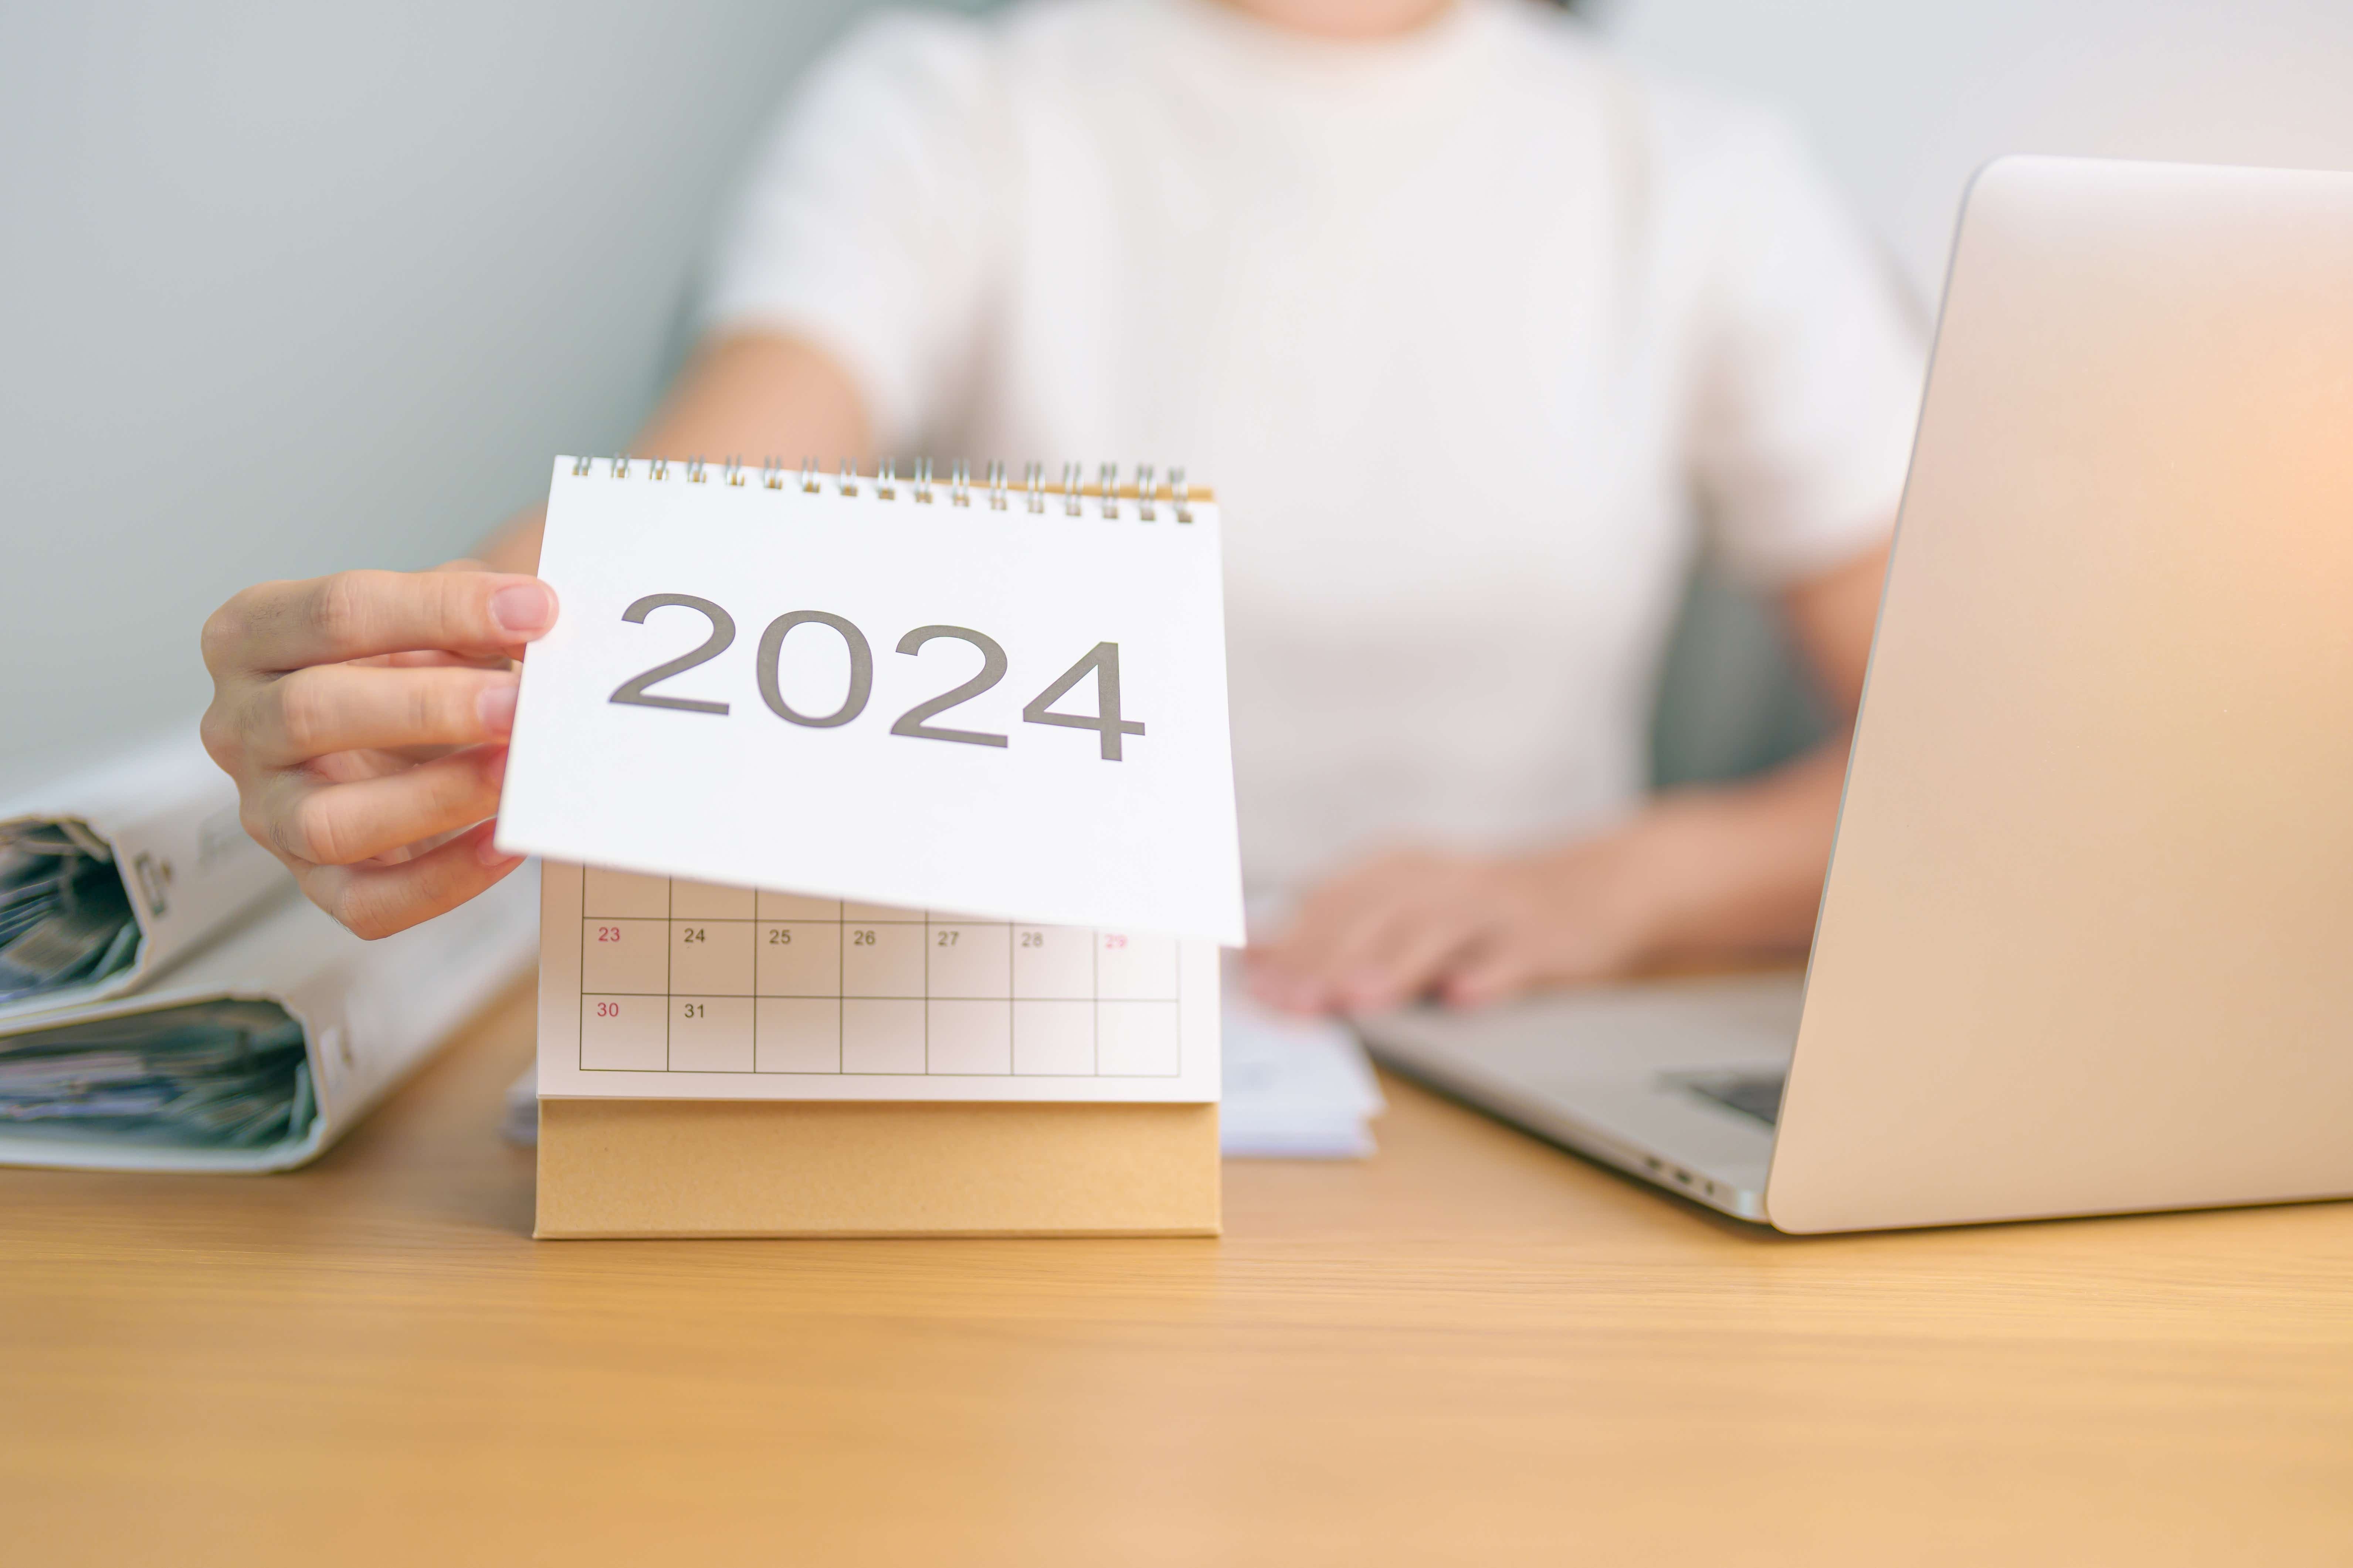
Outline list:
[[[704,331],[824,348],[885,447],[922,440],[976,336],[1000,207],[993,75],[974,19],[866,21],[793,94],[720,235]]]

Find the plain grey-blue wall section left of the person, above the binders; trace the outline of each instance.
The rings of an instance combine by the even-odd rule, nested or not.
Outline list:
[[[0,5],[0,769],[193,717],[235,588],[461,555],[624,440],[847,9]]]

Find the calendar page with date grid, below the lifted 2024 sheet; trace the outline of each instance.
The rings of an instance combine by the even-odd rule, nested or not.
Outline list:
[[[548,863],[539,1093],[1217,1100],[1217,947]]]

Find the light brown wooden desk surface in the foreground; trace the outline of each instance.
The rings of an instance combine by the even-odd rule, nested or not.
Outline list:
[[[529,1034],[0,1171],[0,1559],[2353,1561],[2353,1204],[1800,1241],[1393,1084],[1224,1241],[532,1244]]]

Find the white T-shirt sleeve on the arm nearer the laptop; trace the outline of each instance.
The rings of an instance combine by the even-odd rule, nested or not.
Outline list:
[[[1713,169],[1689,451],[1713,543],[1779,588],[1887,538],[1920,409],[1918,310],[1779,122],[1741,118]]]

